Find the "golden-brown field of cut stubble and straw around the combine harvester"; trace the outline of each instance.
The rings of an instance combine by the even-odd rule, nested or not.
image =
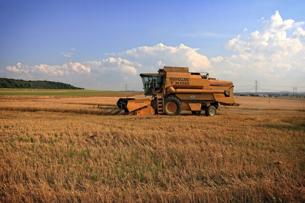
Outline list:
[[[117,99],[0,96],[0,201],[305,201],[305,99],[210,117],[124,116]]]

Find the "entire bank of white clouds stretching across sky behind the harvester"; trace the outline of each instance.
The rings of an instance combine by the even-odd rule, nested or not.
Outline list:
[[[261,22],[260,29],[250,34],[246,34],[250,30],[241,30],[242,34],[225,43],[224,47],[233,52],[233,55],[210,59],[199,54],[198,48],[184,44],[167,46],[159,43],[105,54],[111,57],[103,60],[67,62],[59,66],[27,66],[17,63],[5,67],[2,72],[9,77],[57,79],[87,89],[109,90],[120,90],[124,84],[140,88],[142,83],[139,73],[156,73],[157,69],[163,66],[189,67],[193,72],[209,72],[211,77],[232,80],[239,85],[251,84],[253,80],[303,81],[303,25],[304,22],[283,20],[276,11],[270,19]],[[71,51],[75,49],[71,48]],[[72,52],[62,54],[70,58]]]

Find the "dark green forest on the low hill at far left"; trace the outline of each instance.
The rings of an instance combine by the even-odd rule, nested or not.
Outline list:
[[[70,84],[52,82],[46,80],[15,80],[8,78],[0,78],[0,88],[36,88],[36,89],[84,89],[81,87],[74,87]]]

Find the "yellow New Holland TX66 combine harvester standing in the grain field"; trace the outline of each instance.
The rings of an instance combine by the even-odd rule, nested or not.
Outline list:
[[[190,73],[185,67],[159,69],[157,74],[142,73],[145,96],[151,99],[120,98],[117,106],[128,115],[179,115],[190,110],[199,115],[216,114],[218,105],[239,106],[233,99],[231,81],[209,78],[209,73]]]

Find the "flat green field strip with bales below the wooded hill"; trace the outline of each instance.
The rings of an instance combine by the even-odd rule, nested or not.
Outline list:
[[[24,91],[25,90],[25,91]],[[20,92],[22,91],[22,92]],[[58,89],[12,89],[0,88],[0,95],[38,95],[38,96],[90,96],[99,94],[131,93],[125,91],[98,91],[98,90],[58,90]]]

